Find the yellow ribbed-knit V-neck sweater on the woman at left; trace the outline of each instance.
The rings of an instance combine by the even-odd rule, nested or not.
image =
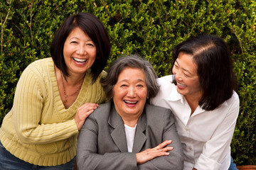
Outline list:
[[[87,72],[80,94],[70,108],[60,99],[52,58],[31,63],[16,86],[14,105],[0,128],[4,147],[19,159],[41,166],[65,164],[75,157],[78,128],[75,113],[83,103],[105,103],[100,74],[92,84]]]

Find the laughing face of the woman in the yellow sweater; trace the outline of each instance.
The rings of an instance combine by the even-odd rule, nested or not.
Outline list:
[[[68,74],[85,74],[97,55],[95,43],[80,28],[70,32],[63,47]]]

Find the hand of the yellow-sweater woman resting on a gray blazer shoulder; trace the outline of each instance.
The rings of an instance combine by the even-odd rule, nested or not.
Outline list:
[[[75,123],[78,126],[78,130],[82,128],[85,123],[85,119],[92,113],[99,105],[96,103],[85,103],[78,108],[75,114]]]

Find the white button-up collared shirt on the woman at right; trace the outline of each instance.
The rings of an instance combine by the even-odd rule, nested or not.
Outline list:
[[[233,96],[214,111],[200,106],[191,115],[191,108],[184,96],[178,94],[172,83],[173,75],[157,79],[159,93],[151,98],[156,106],[170,108],[176,119],[176,128],[184,152],[184,170],[228,169],[230,166],[230,142],[239,113],[239,97]]]

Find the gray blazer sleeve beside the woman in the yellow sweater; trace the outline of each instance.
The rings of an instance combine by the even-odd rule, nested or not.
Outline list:
[[[111,152],[97,154],[98,123],[92,113],[82,126],[78,138],[77,165],[78,169],[137,169],[136,154],[129,152]]]

